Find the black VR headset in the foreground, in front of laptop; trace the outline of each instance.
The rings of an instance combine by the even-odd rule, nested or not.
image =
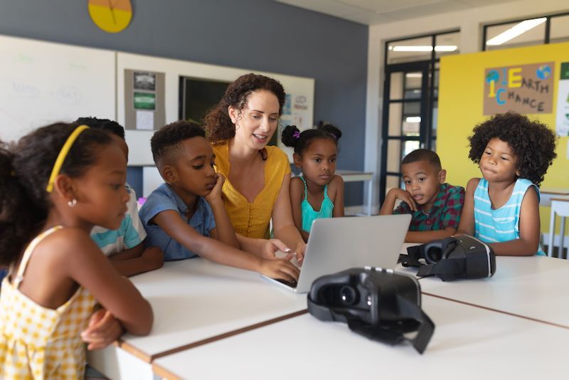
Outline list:
[[[308,312],[322,321],[345,322],[379,342],[406,340],[421,354],[435,331],[421,310],[418,281],[381,268],[352,268],[317,278],[308,294]]]

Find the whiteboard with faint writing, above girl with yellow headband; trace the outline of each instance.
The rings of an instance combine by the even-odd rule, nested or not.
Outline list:
[[[0,139],[52,122],[115,120],[115,51],[0,36]]]

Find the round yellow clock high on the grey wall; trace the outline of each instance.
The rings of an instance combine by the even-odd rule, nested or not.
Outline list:
[[[132,19],[130,0],[88,0],[89,15],[96,26],[109,33],[118,33]]]

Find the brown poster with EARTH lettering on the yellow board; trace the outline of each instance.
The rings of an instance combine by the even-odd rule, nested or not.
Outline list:
[[[554,69],[553,62],[486,68],[484,115],[553,112]]]

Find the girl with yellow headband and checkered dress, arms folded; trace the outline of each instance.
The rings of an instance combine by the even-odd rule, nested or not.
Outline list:
[[[111,137],[55,124],[0,142],[0,378],[83,379],[85,352],[124,330],[148,334],[152,310],[90,238],[119,227],[127,161]],[[102,308],[95,311],[95,305]]]

